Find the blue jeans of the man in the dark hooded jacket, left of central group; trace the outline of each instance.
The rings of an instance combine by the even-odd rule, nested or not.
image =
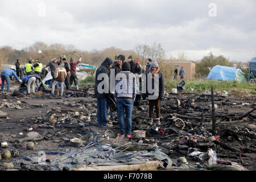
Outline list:
[[[99,126],[108,123],[108,99],[97,98],[97,120]]]

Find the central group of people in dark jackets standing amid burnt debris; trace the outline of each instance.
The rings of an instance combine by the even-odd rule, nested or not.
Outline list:
[[[111,69],[114,70],[114,80],[111,80]],[[102,77],[101,73],[107,75]],[[146,74],[146,77],[142,76],[142,73]],[[158,81],[155,84],[155,77],[158,74]],[[154,93],[149,92],[146,86],[146,93],[142,92],[142,82],[148,82],[148,77],[152,80],[152,89]],[[105,80],[108,78],[109,80]],[[146,78],[146,80],[143,80]],[[112,81],[114,81],[114,90],[111,89]],[[108,84],[101,84],[102,82]],[[105,88],[108,86],[108,88]],[[102,92],[104,90],[104,92]],[[150,97],[157,92],[157,97]],[[126,134],[126,137],[130,138],[131,135],[131,123],[133,106],[138,104],[148,97],[149,101],[149,119],[148,124],[152,125],[155,122],[160,125],[160,101],[164,98],[164,77],[163,73],[159,70],[159,65],[155,60],[147,59],[147,65],[143,66],[139,61],[133,60],[132,56],[128,57],[128,61],[125,61],[124,55],[115,56],[115,61],[107,57],[101,66],[96,71],[94,96],[97,98],[97,121],[99,127],[112,127],[112,122],[108,119],[108,108],[111,96],[114,96],[114,100],[117,106],[117,117],[119,122],[120,133],[119,137]],[[138,102],[138,103],[136,103]],[[154,119],[154,107],[156,109],[156,118]],[[113,116],[113,111],[110,109],[110,119]],[[126,129],[125,119],[126,118]]]

